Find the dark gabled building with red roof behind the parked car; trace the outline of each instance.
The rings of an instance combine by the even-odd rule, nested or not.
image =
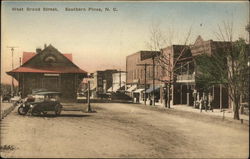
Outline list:
[[[18,81],[22,97],[44,88],[60,91],[63,100],[75,100],[87,72],[73,63],[72,54],[62,54],[52,45],[36,51],[24,52],[22,65],[7,72]]]

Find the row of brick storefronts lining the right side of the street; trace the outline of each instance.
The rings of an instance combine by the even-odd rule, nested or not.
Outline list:
[[[227,46],[228,42],[204,41],[201,36],[198,36],[193,45],[171,45],[163,48],[161,52],[157,52],[157,56],[154,58],[152,57],[155,53],[150,51],[139,51],[131,54],[126,58],[127,91],[131,96],[143,100],[143,95],[150,95],[154,85],[155,96],[159,98],[157,99],[159,103],[163,104],[168,93],[164,93],[166,91],[165,84],[170,82],[171,104],[193,106],[197,97],[200,99],[211,93],[215,108],[230,107],[228,89],[224,88],[222,84],[214,84],[207,91],[197,82],[196,67],[198,66],[195,63],[196,56],[220,53],[222,47]],[[154,67],[152,67],[153,63]],[[145,87],[146,93],[144,93]]]

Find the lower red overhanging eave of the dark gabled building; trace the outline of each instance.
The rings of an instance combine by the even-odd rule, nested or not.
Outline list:
[[[7,74],[12,73],[87,73],[86,71],[68,66],[58,66],[58,67],[18,67],[12,71],[7,72]]]

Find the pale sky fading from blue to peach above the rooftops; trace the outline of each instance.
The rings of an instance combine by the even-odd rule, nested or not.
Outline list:
[[[61,53],[72,53],[73,62],[87,72],[125,70],[126,56],[149,49],[147,42],[154,24],[166,38],[171,37],[173,44],[184,44],[190,28],[189,44],[198,35],[204,40],[218,40],[214,32],[223,21],[233,22],[234,39],[247,38],[249,3],[5,1],[1,13],[1,82],[9,83],[11,78],[5,73],[12,69],[9,46],[17,47],[14,68],[24,51],[35,52],[51,44]]]

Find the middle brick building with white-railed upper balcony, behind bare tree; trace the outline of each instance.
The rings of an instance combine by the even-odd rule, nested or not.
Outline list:
[[[187,45],[172,45],[164,48],[163,54],[166,60],[169,60],[169,62],[165,61],[168,64],[164,65],[169,71],[165,71],[162,80],[174,81],[171,102],[172,104],[187,104],[188,90],[194,85],[194,63],[190,48]]]

